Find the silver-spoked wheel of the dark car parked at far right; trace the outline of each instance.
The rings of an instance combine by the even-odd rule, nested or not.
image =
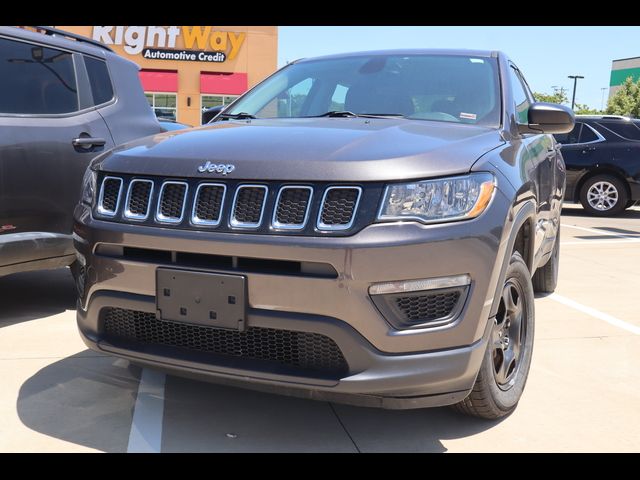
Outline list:
[[[624,183],[612,175],[589,178],[580,189],[580,203],[592,215],[606,217],[622,212],[629,200]]]

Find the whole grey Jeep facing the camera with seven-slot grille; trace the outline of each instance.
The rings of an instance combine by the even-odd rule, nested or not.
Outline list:
[[[557,281],[547,133],[573,128],[532,98],[498,52],[336,55],[100,155],[75,211],[82,338],[233,385],[506,415],[534,287]]]

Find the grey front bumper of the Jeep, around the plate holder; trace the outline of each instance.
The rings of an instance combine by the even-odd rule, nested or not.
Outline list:
[[[85,274],[79,285],[78,326],[90,348],[186,376],[386,408],[455,403],[472,388],[485,352],[506,247],[508,207],[497,191],[491,206],[474,220],[427,226],[375,224],[351,237],[317,238],[105,222],[79,206],[74,238]],[[96,254],[98,246],[330,264],[337,278],[237,269],[233,273],[247,278],[249,326],[326,335],[342,351],[348,372],[340,378],[319,378],[109,341],[102,331],[101,312],[124,308],[154,313],[156,268],[180,264],[114,258]],[[464,307],[448,325],[397,330],[368,293],[373,283],[462,274],[472,283]]]

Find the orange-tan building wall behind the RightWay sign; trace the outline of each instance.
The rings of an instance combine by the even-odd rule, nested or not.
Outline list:
[[[156,34],[153,37],[150,35],[150,27],[131,27],[129,29],[130,27],[114,26],[109,29],[108,27],[94,26],[57,26],[57,28],[94,38],[106,44],[111,41],[109,46],[115,52],[134,61],[143,70],[177,70],[177,120],[189,125],[200,125],[202,112],[200,102],[201,72],[246,73],[247,87],[251,88],[273,73],[277,67],[278,27],[164,27],[167,34],[164,38],[164,45],[161,42],[162,35]],[[173,30],[174,33],[179,32],[173,36],[175,38],[173,46],[169,45],[171,39],[169,28],[177,29]],[[200,35],[198,36],[197,33]],[[233,37],[231,37],[232,35]],[[232,40],[235,40],[239,45],[238,48],[233,48]],[[144,57],[146,49],[213,53],[221,51],[226,55],[226,58],[223,62],[150,59]],[[240,93],[243,92],[234,92],[233,95]]]

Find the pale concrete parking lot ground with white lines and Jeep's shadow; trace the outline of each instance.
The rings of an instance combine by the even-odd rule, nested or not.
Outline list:
[[[562,216],[518,409],[383,411],[198,383],[87,350],[67,269],[0,278],[0,451],[640,451],[640,207]]]

